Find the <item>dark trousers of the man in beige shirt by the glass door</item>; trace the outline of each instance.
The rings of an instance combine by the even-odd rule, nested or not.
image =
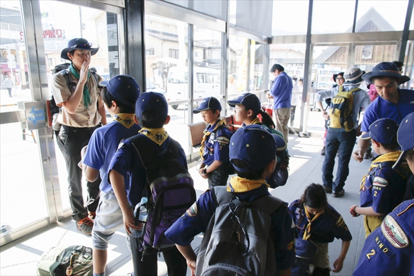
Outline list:
[[[63,154],[68,171],[68,194],[72,208],[72,219],[75,221],[88,216],[88,210],[95,212],[99,204],[100,177],[94,182],[86,181],[88,201],[86,207],[83,205],[82,170],[78,166],[81,161],[81,149],[88,145],[92,132],[98,127],[72,128],[62,125],[59,135],[57,135],[57,144]]]

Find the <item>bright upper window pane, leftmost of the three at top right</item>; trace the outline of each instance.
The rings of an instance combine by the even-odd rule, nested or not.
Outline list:
[[[308,8],[308,0],[273,1],[272,35],[306,34]]]

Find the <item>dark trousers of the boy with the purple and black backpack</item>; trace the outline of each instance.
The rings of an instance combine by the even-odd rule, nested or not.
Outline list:
[[[131,241],[132,242],[132,241]],[[184,276],[187,274],[187,262],[181,255],[177,247],[166,250],[162,253],[164,261],[167,265],[168,276]],[[142,253],[138,251],[137,257],[141,260]],[[135,271],[136,276],[157,276],[157,254],[145,255],[144,259],[137,263],[138,271]]]

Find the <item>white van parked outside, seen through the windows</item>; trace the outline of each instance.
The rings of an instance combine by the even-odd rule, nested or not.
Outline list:
[[[195,67],[194,98],[217,97],[220,95],[220,70]],[[173,67],[168,71],[167,93],[168,101],[189,99],[188,95],[188,68]],[[172,108],[177,109],[178,105]]]

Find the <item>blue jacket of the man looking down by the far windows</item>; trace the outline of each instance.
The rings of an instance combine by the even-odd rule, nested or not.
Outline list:
[[[286,72],[280,73],[270,89],[270,95],[273,96],[273,109],[291,108],[292,90],[292,79],[290,79]]]

